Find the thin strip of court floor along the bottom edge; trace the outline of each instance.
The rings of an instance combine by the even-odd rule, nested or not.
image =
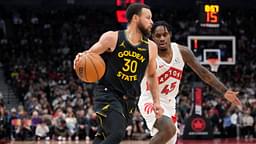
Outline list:
[[[123,141],[121,144],[148,144],[149,141]],[[13,141],[0,144],[92,144],[86,141]],[[213,140],[178,140],[177,144],[256,144],[256,139],[213,139]]]

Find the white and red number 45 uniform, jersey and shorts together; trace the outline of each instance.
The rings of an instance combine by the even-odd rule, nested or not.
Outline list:
[[[160,91],[160,104],[164,109],[163,115],[169,117],[175,125],[176,120],[176,100],[175,97],[179,92],[180,80],[182,77],[184,61],[176,43],[171,43],[172,60],[166,63],[161,57],[157,57],[157,77]],[[141,96],[139,98],[138,107],[141,115],[144,117],[147,127],[150,129],[151,135],[157,133],[154,128],[156,121],[155,113],[153,112],[153,98],[149,91],[146,78],[141,82]],[[174,136],[174,142],[176,141]]]

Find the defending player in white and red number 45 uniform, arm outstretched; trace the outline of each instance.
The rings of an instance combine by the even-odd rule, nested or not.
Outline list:
[[[175,144],[177,140],[176,128],[176,100],[179,92],[183,67],[187,64],[205,83],[219,91],[231,103],[241,106],[237,98],[238,92],[227,89],[211,72],[200,65],[193,53],[186,47],[171,43],[172,32],[165,21],[158,21],[152,27],[152,39],[158,45],[156,73],[160,90],[160,104],[164,114],[156,119],[152,112],[153,100],[147,82],[141,83],[139,109],[145,118],[153,136],[150,144]]]

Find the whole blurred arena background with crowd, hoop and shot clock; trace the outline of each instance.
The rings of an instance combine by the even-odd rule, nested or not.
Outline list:
[[[73,59],[103,32],[124,29],[134,2],[151,6],[154,21],[172,26],[172,41],[209,70],[214,58],[214,74],[240,92],[242,110],[185,67],[176,98],[179,139],[255,139],[254,0],[0,0],[0,138],[94,139],[95,84],[77,78]],[[126,139],[149,138],[136,111]]]

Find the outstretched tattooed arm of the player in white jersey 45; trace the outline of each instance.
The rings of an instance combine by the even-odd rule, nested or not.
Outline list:
[[[224,95],[224,97],[235,105],[241,105],[237,98],[238,92],[227,89],[217,77],[203,67],[195,58],[194,54],[186,47],[179,45],[184,62],[207,84]]]

